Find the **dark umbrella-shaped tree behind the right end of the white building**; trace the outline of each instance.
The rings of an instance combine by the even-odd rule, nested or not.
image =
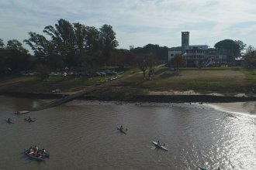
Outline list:
[[[214,47],[216,49],[226,49],[229,53],[229,56],[240,56],[240,47],[237,42],[232,39],[224,39],[220,42],[217,42]]]

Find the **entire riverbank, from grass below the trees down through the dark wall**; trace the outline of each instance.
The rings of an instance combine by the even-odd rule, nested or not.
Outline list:
[[[255,73],[256,70],[243,68],[207,68],[184,69],[174,74],[166,67],[158,67],[152,80],[144,80],[140,70],[128,70],[115,77],[50,76],[49,81],[36,76],[9,76],[0,83],[0,95],[60,99],[90,91],[78,98],[165,103],[242,102],[256,100]]]

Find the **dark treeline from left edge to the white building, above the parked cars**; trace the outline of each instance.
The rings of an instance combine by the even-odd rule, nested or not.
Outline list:
[[[6,46],[0,39],[1,73],[33,70],[40,66],[50,70],[64,67],[92,70],[100,66],[137,66],[148,57],[153,57],[155,63],[168,59],[167,46],[147,44],[117,49],[119,42],[112,26],[105,24],[96,29],[64,19],[59,19],[54,26],[46,26],[43,34],[29,32],[29,39],[24,42],[31,47],[33,55],[16,39],[9,40]]]

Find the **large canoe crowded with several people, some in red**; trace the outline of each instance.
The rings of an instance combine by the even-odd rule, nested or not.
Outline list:
[[[49,153],[43,148],[39,149],[37,146],[30,147],[29,149],[24,149],[24,152],[26,155],[28,155],[30,158],[35,158],[39,161],[45,161],[47,158],[50,157]]]

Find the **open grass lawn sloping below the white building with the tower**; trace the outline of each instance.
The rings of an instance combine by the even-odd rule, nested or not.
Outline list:
[[[152,80],[137,74],[126,80],[138,88],[155,91],[194,90],[199,93],[240,93],[256,83],[256,70],[244,68],[181,69],[178,75],[166,67],[157,68]]]

